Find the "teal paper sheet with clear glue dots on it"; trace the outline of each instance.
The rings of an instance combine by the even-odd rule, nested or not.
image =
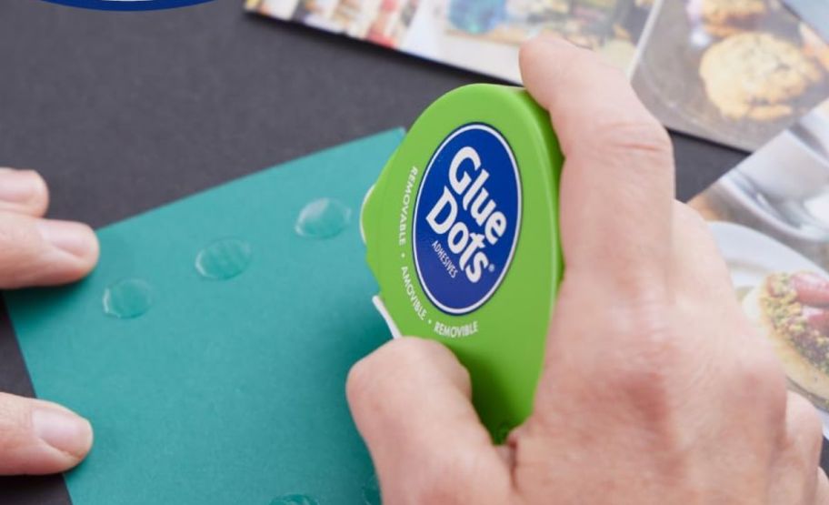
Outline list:
[[[95,426],[88,460],[66,475],[75,505],[269,505],[291,494],[364,503],[373,469],[345,377],[389,335],[371,303],[359,210],[403,135],[367,137],[105,227],[90,278],[5,293],[38,397]],[[321,197],[351,209],[348,226],[323,238],[329,219],[316,230],[325,233],[301,237],[297,217]],[[249,267],[202,277],[197,254],[228,237],[249,245]],[[245,263],[224,260],[231,270]],[[149,287],[140,317],[105,315],[106,288],[124,279]],[[109,302],[134,309],[136,300]]]

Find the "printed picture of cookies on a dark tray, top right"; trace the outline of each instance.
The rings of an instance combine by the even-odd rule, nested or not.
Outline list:
[[[829,97],[829,45],[778,0],[665,0],[633,83],[665,126],[753,151]]]

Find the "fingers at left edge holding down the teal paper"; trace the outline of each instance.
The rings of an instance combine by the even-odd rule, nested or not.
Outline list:
[[[95,267],[95,233],[43,218],[48,200],[35,172],[0,168],[0,289],[65,284]],[[72,468],[92,438],[89,422],[68,409],[0,393],[0,475]]]

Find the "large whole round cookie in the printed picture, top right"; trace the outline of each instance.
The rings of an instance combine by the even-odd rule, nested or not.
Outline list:
[[[771,121],[794,113],[793,101],[823,78],[801,48],[762,32],[731,35],[700,63],[705,92],[729,119]]]

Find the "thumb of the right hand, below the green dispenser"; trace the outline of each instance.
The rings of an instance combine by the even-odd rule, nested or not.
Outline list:
[[[444,346],[393,340],[355,365],[347,394],[385,502],[510,502],[508,463],[473,409],[468,373]]]

